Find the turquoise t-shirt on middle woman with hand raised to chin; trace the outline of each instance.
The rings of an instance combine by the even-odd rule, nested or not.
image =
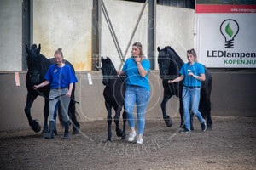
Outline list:
[[[147,59],[144,59],[142,62],[143,69],[146,71],[149,71],[150,68],[150,63]],[[133,57],[130,59],[127,59],[125,61],[125,65],[122,69],[122,71],[126,72],[127,75],[127,80],[126,84],[127,85],[136,85],[136,86],[141,86],[143,88],[146,88],[148,91],[150,91],[150,86],[148,82],[148,73],[145,77],[142,77],[137,69],[137,64]]]

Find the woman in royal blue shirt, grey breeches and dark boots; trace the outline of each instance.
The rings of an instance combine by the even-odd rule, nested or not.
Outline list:
[[[55,107],[58,102],[61,105],[61,113],[65,127],[64,139],[69,138],[68,106],[73,90],[73,83],[78,82],[78,79],[72,68],[69,65],[65,65],[62,61],[62,49],[58,48],[58,50],[55,51],[56,64],[49,66],[49,69],[44,76],[45,81],[41,84],[34,85],[33,87],[34,89],[42,88],[50,83],[49,99],[53,100],[49,100],[49,134],[45,137],[46,139],[54,139]],[[58,96],[61,97],[55,99]]]

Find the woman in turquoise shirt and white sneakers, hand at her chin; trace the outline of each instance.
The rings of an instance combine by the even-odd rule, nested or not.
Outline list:
[[[150,63],[144,59],[143,46],[140,42],[132,45],[132,57],[125,61],[122,72],[126,73],[126,91],[125,91],[125,111],[131,133],[128,137],[129,142],[133,142],[137,133],[135,130],[135,121],[133,116],[133,109],[135,103],[137,104],[137,144],[143,144],[143,130],[145,127],[145,111],[150,98],[150,87],[148,82],[148,71]]]

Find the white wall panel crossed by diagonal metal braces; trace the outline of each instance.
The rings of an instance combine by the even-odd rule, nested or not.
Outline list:
[[[132,31],[136,26],[138,16],[143,8],[143,3],[131,3],[119,0],[104,1],[108,10],[109,18],[113,25],[116,37],[119,40],[120,48],[125,54],[128,42],[130,41]],[[131,45],[134,42],[143,44],[143,52],[147,57],[148,42],[148,5],[144,10],[142,19],[137,27],[137,31]],[[115,68],[118,69],[120,64],[119,54],[115,48],[113,38],[108,29],[107,22],[102,12],[102,56],[108,56],[112,59]],[[131,46],[126,54],[126,58],[131,57]]]

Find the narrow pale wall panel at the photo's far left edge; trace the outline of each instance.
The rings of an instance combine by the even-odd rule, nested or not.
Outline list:
[[[0,0],[0,71],[21,71],[22,1]]]

